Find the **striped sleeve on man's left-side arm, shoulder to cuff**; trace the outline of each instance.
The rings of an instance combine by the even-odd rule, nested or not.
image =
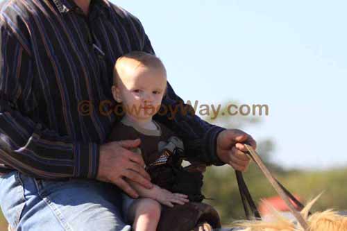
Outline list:
[[[73,142],[26,116],[37,105],[30,43],[2,17],[0,37],[0,163],[37,178],[96,178],[98,144]]]

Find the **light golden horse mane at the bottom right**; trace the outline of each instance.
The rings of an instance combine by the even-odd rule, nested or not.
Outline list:
[[[301,215],[308,224],[308,230],[305,231],[346,231],[347,216],[341,216],[332,209],[315,212],[309,216],[309,211],[319,196],[307,203],[301,211]],[[271,205],[267,206],[271,210],[273,221],[237,221],[235,224],[244,228],[244,231],[304,231],[301,225],[296,225],[294,221],[282,216]]]

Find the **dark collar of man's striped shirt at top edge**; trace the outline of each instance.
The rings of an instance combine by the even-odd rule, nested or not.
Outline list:
[[[76,8],[78,8],[73,0],[53,0],[53,3],[56,4],[61,14],[65,14],[71,10],[76,10]],[[93,7],[98,8],[99,12],[101,12],[101,15],[107,15],[107,17],[110,17],[111,6],[108,0],[92,0],[91,4],[94,5]]]

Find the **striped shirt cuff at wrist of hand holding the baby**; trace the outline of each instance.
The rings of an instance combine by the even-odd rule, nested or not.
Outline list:
[[[74,178],[95,179],[99,169],[99,144],[74,143]]]

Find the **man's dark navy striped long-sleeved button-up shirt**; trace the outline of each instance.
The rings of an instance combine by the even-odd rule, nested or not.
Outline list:
[[[87,16],[72,0],[4,0],[0,10],[0,171],[96,178],[99,146],[121,117],[101,113],[116,104],[115,60],[153,53],[142,24],[107,0],[92,0]],[[168,85],[162,105],[180,102]],[[189,157],[221,164],[216,141],[223,128],[194,114],[172,116],[155,119],[183,139]]]

